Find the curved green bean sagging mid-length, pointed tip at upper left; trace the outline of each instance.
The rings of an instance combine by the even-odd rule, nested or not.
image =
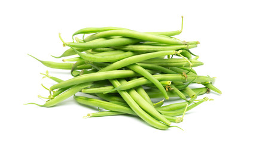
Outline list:
[[[72,48],[72,47],[71,47]],[[72,48],[74,49],[74,48]],[[121,52],[121,54],[112,54],[112,55],[103,55],[103,56],[100,56],[100,55],[92,55],[92,54],[84,54],[84,53],[81,53],[79,51],[77,51],[76,49],[74,49],[75,52],[77,52],[78,55],[80,55],[81,58],[83,58],[84,60],[87,60],[87,61],[96,61],[96,62],[113,62],[113,61],[119,61],[119,60],[122,60],[124,58],[127,58],[127,57],[131,57],[133,55],[135,55],[134,52],[123,52],[123,51],[118,51],[118,52]],[[115,51],[117,52],[117,51]]]

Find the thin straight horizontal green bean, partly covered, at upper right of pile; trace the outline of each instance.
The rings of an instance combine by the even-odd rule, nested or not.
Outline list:
[[[135,52],[156,52],[156,51],[170,51],[178,49],[196,48],[197,45],[175,45],[175,46],[148,46],[148,45],[127,45],[127,46],[112,46],[111,48],[120,49],[123,51]],[[182,51],[181,54],[187,51]]]

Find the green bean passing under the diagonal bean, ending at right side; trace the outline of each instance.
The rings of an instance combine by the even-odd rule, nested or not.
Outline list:
[[[215,79],[207,76],[187,76],[187,79],[182,76],[181,74],[158,74],[153,75],[157,80],[170,80],[170,81],[178,81],[178,82],[190,82],[194,80],[195,83],[206,83],[206,82],[214,82]],[[115,90],[127,90],[130,88],[134,88],[139,85],[145,85],[147,83],[151,83],[150,80],[146,79],[145,77],[140,77],[139,79],[130,80],[129,82],[118,86]],[[114,91],[114,90],[112,90]]]

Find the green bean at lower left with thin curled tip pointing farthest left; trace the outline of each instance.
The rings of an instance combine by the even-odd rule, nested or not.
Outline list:
[[[86,82],[86,83],[82,83],[80,85],[72,86],[72,88],[70,88],[68,91],[63,92],[62,94],[53,98],[53,100],[48,100],[43,105],[39,105],[36,103],[27,103],[27,104],[35,104],[35,105],[38,105],[41,107],[52,107],[52,106],[58,104],[59,102],[62,102],[64,100],[66,100],[67,98],[71,97],[72,95],[76,94],[78,91],[81,91],[82,89],[84,89],[88,86],[91,86],[91,85],[92,85],[92,82]],[[27,104],[25,104],[25,105],[27,105]]]

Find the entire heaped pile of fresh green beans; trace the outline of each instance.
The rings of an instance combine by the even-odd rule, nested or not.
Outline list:
[[[137,32],[121,27],[87,27],[72,35],[73,42],[65,42],[59,34],[68,49],[53,57],[63,58],[63,63],[30,56],[44,66],[66,70],[73,77],[62,80],[50,76],[48,71],[42,73],[57,83],[50,88],[43,86],[50,91],[48,97],[38,96],[47,100],[45,104],[28,104],[53,107],[74,95],[78,103],[99,110],[85,117],[129,114],[156,129],[174,127],[171,123],[182,122],[187,111],[211,100],[199,99],[199,95],[210,90],[221,94],[213,85],[215,77],[197,75],[194,67],[203,63],[190,50],[199,42],[173,37],[181,32],[182,28]],[[83,38],[76,37],[74,42],[77,35]],[[77,96],[77,92],[84,94]]]

